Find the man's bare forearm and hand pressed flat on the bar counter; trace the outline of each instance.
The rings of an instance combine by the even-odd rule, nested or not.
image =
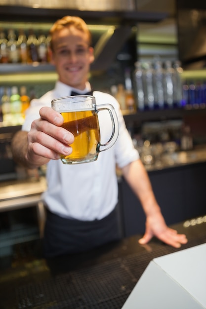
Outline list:
[[[179,248],[181,244],[187,243],[187,238],[184,234],[178,234],[177,231],[166,226],[160,206],[153,193],[149,176],[141,160],[138,159],[131,162],[122,171],[131,189],[140,199],[146,215],[146,230],[139,243],[146,244],[153,236],[158,237],[175,248]]]

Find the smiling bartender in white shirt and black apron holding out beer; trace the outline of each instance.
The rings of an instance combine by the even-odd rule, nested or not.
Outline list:
[[[187,242],[186,236],[166,226],[114,97],[93,91],[96,104],[109,103],[117,112],[120,133],[115,145],[100,153],[94,162],[61,162],[60,154],[71,154],[74,136],[61,126],[63,117],[52,110],[51,100],[69,96],[72,91],[91,91],[88,73],[94,56],[90,32],[81,18],[63,17],[53,25],[50,34],[51,57],[59,79],[53,90],[31,102],[22,130],[16,133],[11,145],[14,159],[24,166],[36,168],[47,164],[47,190],[42,195],[47,210],[44,256],[81,252],[120,239],[116,164],[146,214],[146,231],[139,242],[145,244],[156,236],[180,247]],[[104,126],[103,134],[110,136],[109,130]]]

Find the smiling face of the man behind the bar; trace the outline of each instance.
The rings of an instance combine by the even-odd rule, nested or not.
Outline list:
[[[94,60],[93,48],[82,31],[70,27],[56,32],[52,37],[52,63],[59,80],[83,90],[88,78],[90,64]]]

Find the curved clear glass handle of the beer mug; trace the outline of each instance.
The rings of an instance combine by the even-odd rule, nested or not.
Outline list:
[[[112,135],[109,139],[108,142],[106,142],[105,144],[101,144],[99,143],[98,145],[98,153],[105,151],[107,149],[109,149],[110,147],[112,147],[115,142],[117,141],[117,138],[119,136],[119,123],[118,123],[118,117],[117,117],[117,113],[114,109],[114,107],[111,104],[100,104],[100,105],[96,105],[96,111],[101,112],[107,110],[110,114],[111,117],[111,121],[112,121]],[[103,149],[100,150],[100,147],[104,147]]]

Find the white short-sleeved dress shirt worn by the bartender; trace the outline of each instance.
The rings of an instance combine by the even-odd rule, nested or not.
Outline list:
[[[87,82],[82,93],[90,89]],[[32,121],[40,116],[41,107],[51,106],[51,100],[55,98],[69,96],[71,90],[80,92],[57,81],[53,90],[40,99],[32,100],[22,130],[30,130]],[[51,212],[82,221],[100,220],[114,209],[118,202],[116,164],[121,168],[139,158],[117,100],[100,91],[94,91],[93,96],[97,105],[109,103],[117,112],[120,132],[116,143],[109,150],[101,152],[94,162],[66,165],[60,159],[50,160],[46,172],[47,190],[42,194],[42,199]],[[98,113],[98,119],[103,144],[111,136],[111,120],[109,113],[104,111]]]

